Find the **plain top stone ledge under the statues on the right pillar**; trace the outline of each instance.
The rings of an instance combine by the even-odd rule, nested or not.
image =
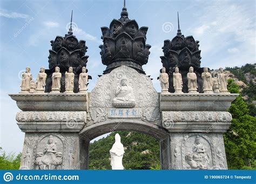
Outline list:
[[[160,111],[226,111],[239,94],[160,94]]]

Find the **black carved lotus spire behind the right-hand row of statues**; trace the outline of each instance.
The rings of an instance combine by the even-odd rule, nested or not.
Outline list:
[[[174,92],[173,88],[173,72],[175,67],[179,67],[179,72],[183,78],[183,92],[187,92],[187,72],[190,66],[194,67],[194,72],[198,76],[198,90],[201,92],[201,51],[198,49],[199,41],[194,40],[193,36],[185,37],[182,35],[179,24],[179,12],[178,12],[178,30],[177,35],[170,39],[164,40],[164,46],[162,47],[164,56],[160,56],[161,63],[166,69],[166,73],[169,73],[169,92]]]

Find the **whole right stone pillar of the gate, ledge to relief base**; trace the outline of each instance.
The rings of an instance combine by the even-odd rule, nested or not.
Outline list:
[[[162,125],[170,133],[170,169],[227,169],[226,112],[238,94],[160,94]]]

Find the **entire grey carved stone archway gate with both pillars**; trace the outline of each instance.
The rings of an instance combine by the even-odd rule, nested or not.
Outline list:
[[[124,78],[132,98],[117,97]],[[87,169],[90,140],[116,130],[159,139],[162,169],[227,169],[223,133],[232,117],[225,111],[236,96],[159,94],[149,77],[127,66],[104,74],[87,94],[10,94],[25,132],[20,169]],[[57,160],[45,167],[51,146]]]

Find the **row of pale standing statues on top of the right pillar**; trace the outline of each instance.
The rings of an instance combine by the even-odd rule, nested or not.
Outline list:
[[[159,76],[161,93],[169,94],[169,76],[165,71],[165,67],[163,67]],[[211,73],[208,72],[208,68],[204,67],[204,72],[201,74],[201,78],[203,79],[204,93],[229,93],[227,90],[227,74],[224,73],[223,68],[219,69],[217,78],[212,78]],[[183,93],[183,81],[178,67],[175,68],[175,72],[173,73],[173,87],[175,90],[174,93]],[[197,75],[194,73],[192,66],[187,73],[187,87],[188,93],[198,93]]]

